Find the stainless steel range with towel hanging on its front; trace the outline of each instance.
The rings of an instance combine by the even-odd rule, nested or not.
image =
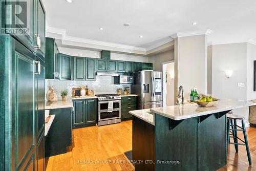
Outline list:
[[[98,126],[121,122],[121,97],[117,94],[98,94]],[[109,102],[113,101],[113,112],[108,112]]]

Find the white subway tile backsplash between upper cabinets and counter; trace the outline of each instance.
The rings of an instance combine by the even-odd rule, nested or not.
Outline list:
[[[49,90],[49,86],[53,86],[58,97],[60,98],[60,91],[68,89],[69,97],[72,96],[72,88],[77,88],[81,86],[88,86],[90,90],[94,91],[94,94],[109,94],[116,93],[119,88],[124,90],[125,87],[130,87],[130,85],[118,85],[114,84],[114,77],[112,76],[96,76],[95,81],[77,81],[77,80],[56,80],[56,79],[46,79],[46,93]]]

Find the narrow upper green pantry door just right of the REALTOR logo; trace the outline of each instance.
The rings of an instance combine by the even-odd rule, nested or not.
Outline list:
[[[37,1],[37,14],[36,14],[36,23],[37,30],[35,36],[35,46],[36,48],[36,55],[40,57],[42,60],[45,58],[45,42],[46,42],[46,28],[45,28],[45,16],[46,12],[44,6],[42,5],[40,0]],[[39,38],[37,38],[37,36]]]

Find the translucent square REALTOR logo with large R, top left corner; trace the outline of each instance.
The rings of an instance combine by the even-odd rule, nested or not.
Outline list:
[[[1,34],[24,35],[28,32],[28,5],[27,0],[1,1],[2,15],[4,15],[1,22]]]

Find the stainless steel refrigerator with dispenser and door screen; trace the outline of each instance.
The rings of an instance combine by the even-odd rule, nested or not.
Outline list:
[[[134,73],[131,92],[138,95],[138,109],[162,107],[162,72],[143,70]]]

